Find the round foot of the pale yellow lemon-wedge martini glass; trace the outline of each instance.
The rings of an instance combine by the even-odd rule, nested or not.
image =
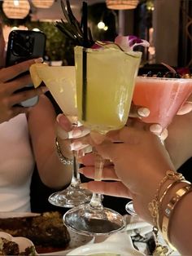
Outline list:
[[[91,196],[92,192],[87,189],[73,188],[72,186],[69,186],[63,191],[51,194],[48,201],[52,205],[72,208],[74,206],[89,203]]]

